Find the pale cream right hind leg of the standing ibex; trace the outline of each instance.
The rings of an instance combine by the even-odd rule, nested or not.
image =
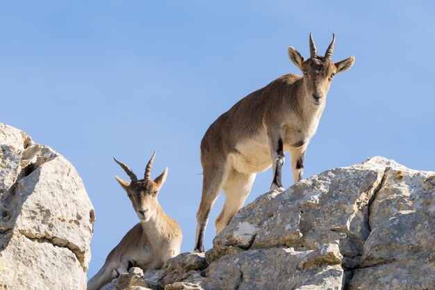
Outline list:
[[[237,214],[240,207],[243,206],[249,192],[251,191],[252,184],[256,174],[243,174],[232,170],[224,186],[222,187],[225,193],[225,203],[220,215],[215,221],[216,234],[219,234],[224,227],[233,219]]]

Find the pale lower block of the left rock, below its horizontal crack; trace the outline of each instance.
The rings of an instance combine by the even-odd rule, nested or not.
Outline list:
[[[19,233],[7,240],[0,252],[0,289],[86,289],[85,273],[71,250]]]

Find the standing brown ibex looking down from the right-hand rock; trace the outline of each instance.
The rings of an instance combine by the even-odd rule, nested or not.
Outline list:
[[[211,207],[222,188],[226,200],[217,217],[216,232],[229,223],[251,191],[256,172],[272,165],[271,190],[282,191],[284,152],[290,150],[293,179],[302,179],[304,154],[325,108],[335,74],[349,69],[355,58],[331,61],[335,35],[325,56],[318,56],[310,34],[309,59],[293,47],[288,56],[303,76],[286,74],[256,90],[221,115],[201,142],[204,172],[197,212],[195,252],[204,252],[204,230]]]

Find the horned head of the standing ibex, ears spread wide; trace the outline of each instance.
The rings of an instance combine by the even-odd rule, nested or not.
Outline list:
[[[332,35],[332,42],[329,45],[325,56],[318,56],[315,49],[313,35],[310,33],[310,58],[305,59],[294,47],[288,47],[288,57],[302,74],[304,83],[311,102],[315,105],[325,102],[329,86],[334,76],[348,70],[354,64],[355,58],[351,56],[338,63],[332,62],[332,52],[336,38]]]

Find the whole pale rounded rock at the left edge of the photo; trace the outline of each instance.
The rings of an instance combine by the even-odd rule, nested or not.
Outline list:
[[[0,123],[0,289],[86,289],[94,222],[71,163]]]

